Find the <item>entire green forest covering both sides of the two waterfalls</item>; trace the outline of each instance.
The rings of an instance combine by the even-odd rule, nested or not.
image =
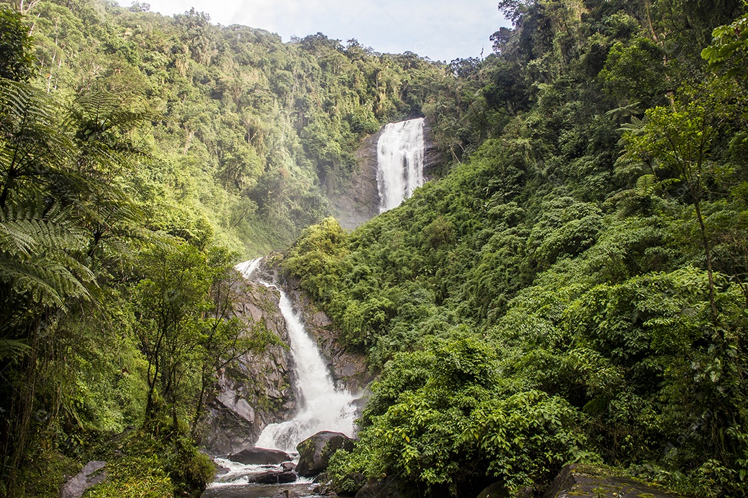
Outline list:
[[[339,491],[537,493],[580,461],[744,496],[748,6],[498,7],[493,53],[445,65],[1,2],[0,496],[91,458],[87,496],[199,494],[215,373],[273,342],[231,318],[232,264],[299,234],[275,261],[380,373]],[[360,140],[414,116],[443,178],[322,220]]]

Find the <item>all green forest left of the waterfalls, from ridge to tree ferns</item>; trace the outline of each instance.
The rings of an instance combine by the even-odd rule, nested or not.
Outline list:
[[[0,2],[0,496],[56,496],[93,458],[90,496],[199,494],[216,373],[275,340],[231,318],[232,265],[456,88],[413,54],[147,10]]]

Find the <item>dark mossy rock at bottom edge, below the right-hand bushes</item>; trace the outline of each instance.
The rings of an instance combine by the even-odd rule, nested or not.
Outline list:
[[[358,496],[358,495],[356,495]],[[591,465],[562,468],[543,498],[679,498],[615,471]]]

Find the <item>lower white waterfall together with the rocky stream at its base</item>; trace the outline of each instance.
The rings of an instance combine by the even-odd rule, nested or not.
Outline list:
[[[322,359],[315,341],[309,336],[301,317],[294,311],[283,289],[276,284],[256,278],[260,259],[236,265],[245,278],[278,290],[280,308],[286,320],[290,353],[293,359],[296,387],[300,407],[291,420],[272,423],[263,429],[255,447],[280,449],[298,461],[296,445],[320,431],[343,432],[354,435],[356,416],[355,396],[348,390],[336,387]],[[281,465],[244,465],[225,458],[215,458],[223,473],[203,493],[202,498],[294,498],[319,497],[311,479],[298,478],[289,484],[257,484],[256,476],[283,471]]]

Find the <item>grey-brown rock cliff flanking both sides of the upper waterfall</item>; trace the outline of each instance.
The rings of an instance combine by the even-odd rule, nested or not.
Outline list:
[[[377,142],[381,129],[365,138],[356,151],[356,169],[351,177],[351,185],[344,193],[331,196],[333,215],[340,226],[352,230],[361,223],[379,214],[379,192],[376,185]],[[432,179],[441,164],[434,140],[431,122],[426,119],[423,125],[424,175]]]

